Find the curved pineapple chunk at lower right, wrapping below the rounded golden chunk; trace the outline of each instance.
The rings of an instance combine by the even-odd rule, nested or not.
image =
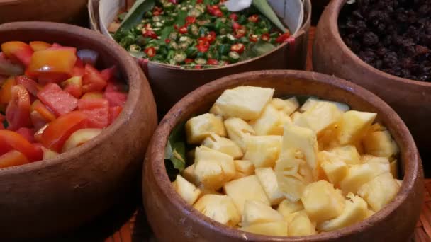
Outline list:
[[[335,229],[341,229],[368,217],[368,204],[366,204],[361,197],[349,193],[347,198],[348,200],[345,202],[346,205],[342,214],[335,219],[323,221],[323,223],[318,224],[318,230],[332,231]]]

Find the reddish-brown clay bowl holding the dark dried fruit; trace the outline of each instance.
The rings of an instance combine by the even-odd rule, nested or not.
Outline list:
[[[369,91],[391,105],[412,132],[425,161],[431,158],[431,83],[399,78],[363,62],[343,42],[337,19],[345,0],[334,0],[325,8],[313,47],[315,71],[339,76]],[[425,122],[425,123],[424,123]]]

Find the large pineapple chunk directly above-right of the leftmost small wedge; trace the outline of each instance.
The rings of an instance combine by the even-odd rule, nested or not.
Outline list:
[[[217,190],[235,176],[233,158],[206,146],[197,147],[194,175],[206,188]]]

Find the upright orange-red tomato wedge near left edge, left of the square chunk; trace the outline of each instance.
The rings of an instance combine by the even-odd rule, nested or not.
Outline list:
[[[21,85],[12,87],[12,98],[6,108],[6,120],[9,122],[9,130],[20,127],[29,127],[30,121],[30,95]]]

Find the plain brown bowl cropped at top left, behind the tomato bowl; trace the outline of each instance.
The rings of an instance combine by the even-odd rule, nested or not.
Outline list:
[[[86,2],[86,0],[0,0],[0,23],[52,21],[84,25],[88,21]]]

